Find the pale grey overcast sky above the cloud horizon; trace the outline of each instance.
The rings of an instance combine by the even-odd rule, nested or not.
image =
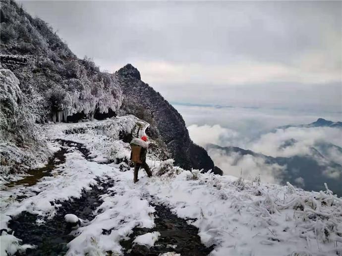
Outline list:
[[[341,1],[21,1],[80,58],[171,102],[342,111]]]

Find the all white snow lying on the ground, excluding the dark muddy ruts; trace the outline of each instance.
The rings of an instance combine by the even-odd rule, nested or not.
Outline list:
[[[132,130],[132,120],[118,118],[115,127]],[[114,158],[127,157],[128,143],[117,140],[117,130],[111,136],[99,128],[106,122],[113,121],[52,125],[50,136],[84,143],[95,160],[110,159],[110,152],[116,154]],[[103,203],[95,211],[99,214],[72,231],[76,237],[68,244],[69,256],[105,255],[106,251],[122,254],[119,241],[128,238],[134,227],[154,226],[155,210],[149,200],[167,205],[179,217],[196,218],[189,222],[199,228],[202,243],[216,245],[213,256],[342,255],[342,199],[329,189],[307,192],[291,184],[260,184],[258,179],[184,171],[172,167],[171,160],[149,159],[147,163],[154,176],[148,178],[140,171],[140,180],[134,184],[132,169],[121,172],[119,165],[87,161],[77,150],[70,151],[66,162],[54,170],[56,175],[32,187],[14,187],[3,193],[0,228],[7,228],[7,215],[22,211],[53,217],[56,209],[51,201],[79,197],[83,188],[97,184],[94,178],[99,176],[113,186],[101,196]],[[19,191],[30,197],[16,201],[13,195]],[[148,236],[137,241],[152,243],[156,239],[152,233]],[[23,249],[14,236],[3,234],[0,240],[1,250],[7,248],[8,253]]]

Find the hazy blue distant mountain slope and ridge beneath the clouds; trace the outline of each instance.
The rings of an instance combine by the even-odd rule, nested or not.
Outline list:
[[[209,155],[211,150],[220,150],[221,154],[226,154],[227,157],[238,153],[241,157],[250,155],[255,160],[262,159],[267,165],[278,164],[284,168],[284,171],[276,176],[282,184],[289,181],[305,190],[320,191],[325,190],[324,182],[326,182],[334,193],[342,196],[342,166],[325,156],[328,155],[326,153],[331,148],[337,149],[342,154],[342,148],[331,143],[317,144],[311,148],[310,154],[292,157],[271,157],[239,147],[221,147],[214,144],[206,146]],[[239,159],[237,158],[234,162],[238,165]],[[327,171],[335,172],[337,177],[327,175]],[[298,182],[298,180],[304,182]]]

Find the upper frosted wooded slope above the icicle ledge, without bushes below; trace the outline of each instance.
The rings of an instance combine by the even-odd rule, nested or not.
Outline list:
[[[78,59],[52,27],[12,0],[1,0],[0,53],[2,68],[18,78],[40,122],[92,119],[121,104],[110,74],[89,58]]]

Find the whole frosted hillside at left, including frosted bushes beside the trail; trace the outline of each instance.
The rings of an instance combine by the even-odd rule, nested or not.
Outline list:
[[[0,10],[0,172],[51,155],[37,123],[114,116],[121,90],[88,58],[78,59],[53,28],[12,0]]]

